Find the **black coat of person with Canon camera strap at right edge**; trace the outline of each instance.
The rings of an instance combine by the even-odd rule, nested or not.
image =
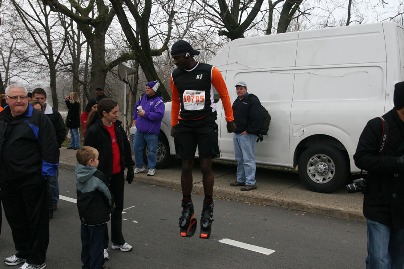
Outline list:
[[[382,122],[370,120],[359,137],[354,155],[355,165],[368,171],[368,192],[364,195],[363,214],[367,219],[395,229],[404,228],[404,170],[397,158],[404,155],[404,122],[393,109],[383,115],[388,123],[388,140],[383,155],[379,155]]]

